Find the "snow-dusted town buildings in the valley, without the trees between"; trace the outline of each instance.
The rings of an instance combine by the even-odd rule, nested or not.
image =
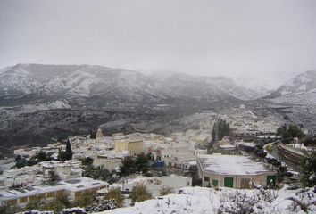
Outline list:
[[[257,119],[252,112],[245,110],[243,106],[221,117],[227,119],[237,132],[253,132],[258,129],[272,131],[272,129],[265,129],[266,124]],[[210,122],[208,128],[188,129],[186,132],[173,133],[170,136],[153,133],[129,135],[116,133],[112,136],[104,136],[101,129],[97,130],[96,139],[89,136],[70,136],[69,141],[73,152],[71,161],[43,161],[21,169],[5,168],[3,175],[0,176],[0,203],[21,205],[37,197],[51,198],[62,192],[69,193],[71,198],[75,199],[80,193],[87,191],[106,193],[113,187],[119,187],[122,192],[129,192],[134,185],[139,183],[146,185],[153,195],[158,195],[162,187],[169,187],[176,193],[181,187],[192,185],[191,177],[177,175],[130,177],[113,185],[82,177],[83,169],[80,160],[84,158],[92,158],[95,167],[112,171],[119,168],[125,157],[136,156],[143,152],[150,153],[153,161],[165,168],[185,172],[191,166],[195,166],[203,186],[249,188],[252,184],[276,184],[275,171],[260,161],[254,161],[242,155],[208,154],[205,148],[212,140],[209,129],[212,124],[213,121]],[[231,142],[228,137],[224,137],[218,144],[222,151],[235,151],[238,146],[254,147],[251,143]],[[43,151],[56,158],[61,149],[64,149],[64,145],[56,143],[41,148],[19,149],[14,151],[14,154],[30,158]],[[61,178],[61,181],[54,185],[46,182],[51,171]],[[16,188],[17,186],[28,186],[28,188],[19,189]]]

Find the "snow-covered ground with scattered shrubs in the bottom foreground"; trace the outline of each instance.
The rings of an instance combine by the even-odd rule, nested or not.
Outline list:
[[[154,213],[316,213],[312,189],[237,190],[204,187],[182,188],[184,194],[168,194],[134,207],[100,212],[103,214]]]

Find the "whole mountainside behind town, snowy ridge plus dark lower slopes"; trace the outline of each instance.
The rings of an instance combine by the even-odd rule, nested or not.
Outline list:
[[[131,124],[148,121],[155,132],[168,133],[177,126],[172,121],[251,99],[252,93],[224,77],[157,78],[104,66],[17,64],[0,73],[0,142],[6,150],[99,127],[109,135],[129,132]]]

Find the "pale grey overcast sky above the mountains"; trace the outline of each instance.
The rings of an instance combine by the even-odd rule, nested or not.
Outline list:
[[[0,67],[99,64],[199,75],[316,69],[315,0],[0,0]]]

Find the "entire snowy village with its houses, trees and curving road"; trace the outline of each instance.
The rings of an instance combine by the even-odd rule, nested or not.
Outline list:
[[[163,195],[194,189],[216,193],[233,188],[265,194],[267,189],[302,185],[299,162],[312,152],[300,136],[304,130],[283,144],[282,119],[259,117],[245,105],[199,114],[203,119],[198,128],[170,136],[139,132],[108,136],[106,130],[98,129],[96,135],[69,136],[46,147],[17,149],[14,159],[1,160],[1,205],[55,213],[79,207],[82,212],[78,213],[85,213],[137,202],[141,207],[143,201],[164,200]],[[306,206],[315,210],[312,204]]]

